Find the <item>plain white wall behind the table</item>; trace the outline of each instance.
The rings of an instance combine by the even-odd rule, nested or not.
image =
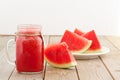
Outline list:
[[[0,34],[18,24],[40,24],[43,34],[75,28],[120,35],[120,0],[0,0]]]

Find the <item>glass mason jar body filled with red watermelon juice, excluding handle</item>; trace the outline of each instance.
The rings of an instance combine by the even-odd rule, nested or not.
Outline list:
[[[27,27],[26,27],[27,26]],[[36,25],[18,27],[16,34],[16,67],[18,72],[41,72],[44,67],[44,44]]]

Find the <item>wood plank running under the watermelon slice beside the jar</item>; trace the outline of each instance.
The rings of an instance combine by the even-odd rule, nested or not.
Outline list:
[[[61,36],[50,36],[49,44],[58,43]],[[75,67],[70,69],[54,68],[47,64],[45,80],[79,80]]]

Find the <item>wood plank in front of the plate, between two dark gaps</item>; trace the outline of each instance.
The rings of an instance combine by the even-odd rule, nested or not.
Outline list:
[[[101,37],[99,36],[100,43]],[[80,80],[113,80],[101,59],[77,60]]]

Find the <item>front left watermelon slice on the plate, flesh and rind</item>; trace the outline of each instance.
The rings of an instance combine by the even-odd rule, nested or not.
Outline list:
[[[80,53],[85,52],[92,43],[91,40],[88,40],[68,30],[65,31],[61,42],[66,42],[71,51],[76,51]]]

